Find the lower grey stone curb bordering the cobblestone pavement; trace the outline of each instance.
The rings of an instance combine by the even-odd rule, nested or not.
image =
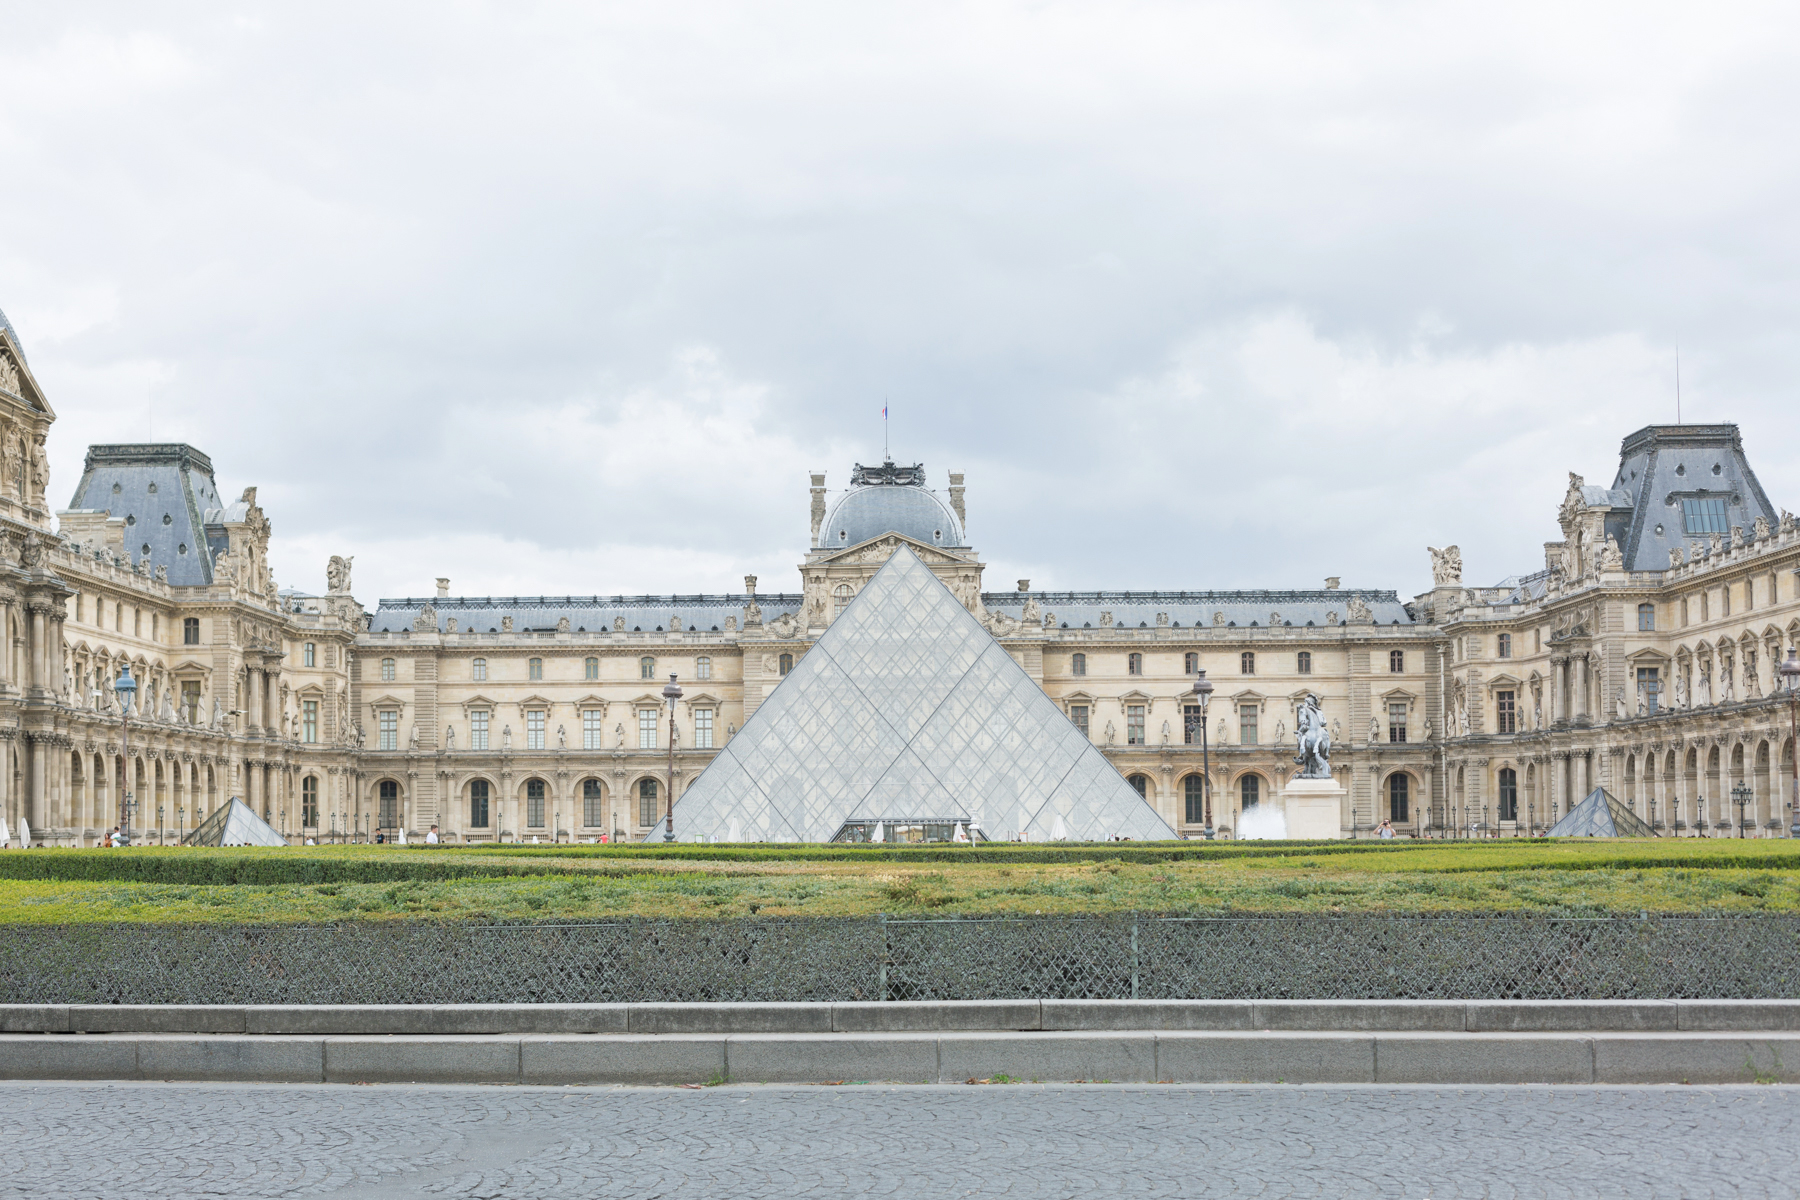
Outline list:
[[[1800,1083],[1800,1033],[0,1034],[0,1079]]]

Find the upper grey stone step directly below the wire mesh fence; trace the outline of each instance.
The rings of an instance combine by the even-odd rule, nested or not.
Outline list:
[[[1800,1000],[931,1000],[887,1004],[0,1004],[0,1033],[952,1031],[1780,1033]]]

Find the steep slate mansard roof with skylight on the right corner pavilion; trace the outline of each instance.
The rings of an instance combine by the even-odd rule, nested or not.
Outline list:
[[[1627,570],[1669,570],[1672,547],[1705,536],[1688,534],[1681,513],[1681,500],[1699,495],[1723,498],[1726,525],[1746,534],[1757,516],[1771,525],[1780,518],[1750,470],[1735,425],[1647,425],[1620,444],[1613,488],[1586,488],[1582,498],[1624,509],[1607,518],[1607,533],[1618,540]]]

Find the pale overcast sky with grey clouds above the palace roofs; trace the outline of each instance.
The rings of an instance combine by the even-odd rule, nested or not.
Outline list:
[[[796,590],[806,471],[988,587],[1543,565],[1737,421],[1800,507],[1793,4],[0,4],[0,309],[286,587]]]

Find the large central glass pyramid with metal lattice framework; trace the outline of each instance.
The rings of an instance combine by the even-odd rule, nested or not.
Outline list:
[[[682,842],[830,842],[851,822],[1174,838],[905,547],[675,804]],[[652,833],[652,838],[661,833]]]

